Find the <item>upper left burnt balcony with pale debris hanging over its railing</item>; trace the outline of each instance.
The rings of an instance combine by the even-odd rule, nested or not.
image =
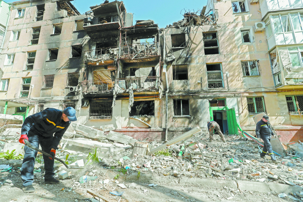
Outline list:
[[[114,59],[117,58],[119,48],[97,48],[84,51],[84,63],[86,65],[111,65],[113,66]]]

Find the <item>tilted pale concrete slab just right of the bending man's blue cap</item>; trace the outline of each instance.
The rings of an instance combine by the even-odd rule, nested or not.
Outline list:
[[[76,131],[76,133],[80,135],[84,135],[85,137],[89,137],[92,139],[105,139],[106,135],[104,135],[103,131],[97,130],[92,127],[88,127],[81,124],[72,123],[72,127]]]

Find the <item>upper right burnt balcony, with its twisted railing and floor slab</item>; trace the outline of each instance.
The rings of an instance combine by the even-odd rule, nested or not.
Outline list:
[[[160,52],[157,43],[138,43],[131,45],[122,45],[120,61],[123,63],[136,62],[159,62]]]

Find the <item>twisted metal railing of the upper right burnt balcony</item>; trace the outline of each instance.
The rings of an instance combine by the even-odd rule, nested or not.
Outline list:
[[[130,45],[122,45],[120,58],[145,58],[154,55],[160,55],[159,44],[156,43],[138,43]]]

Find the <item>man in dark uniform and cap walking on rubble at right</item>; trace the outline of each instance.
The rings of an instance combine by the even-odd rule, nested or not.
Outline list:
[[[258,121],[257,126],[256,126],[257,139],[258,139],[258,141],[261,141],[261,138],[262,138],[262,140],[264,142],[263,151],[260,153],[260,157],[265,158],[265,155],[268,151],[268,154],[270,155],[271,160],[274,163],[277,163],[277,159],[272,151],[270,139],[271,139],[271,135],[274,136],[275,138],[278,138],[278,137],[271,131],[268,121],[269,121],[269,118],[268,118],[268,116],[265,115],[265,116],[263,116],[261,121]]]

